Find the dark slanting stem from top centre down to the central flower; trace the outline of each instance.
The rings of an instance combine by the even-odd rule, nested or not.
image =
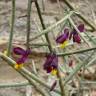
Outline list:
[[[42,18],[42,15],[41,15],[41,10],[40,10],[40,7],[39,7],[39,4],[38,4],[37,0],[35,1],[35,5],[36,5],[36,8],[37,8],[37,12],[38,12],[38,16],[39,16],[39,19],[40,19],[42,28],[43,29],[46,29],[45,24],[44,24],[44,21],[43,21],[43,18]],[[51,43],[50,43],[50,40],[49,40],[49,37],[48,37],[48,34],[47,33],[45,33],[45,37],[46,37],[46,40],[47,40],[47,42],[49,44],[48,45],[49,50],[50,50],[50,52],[52,52]]]

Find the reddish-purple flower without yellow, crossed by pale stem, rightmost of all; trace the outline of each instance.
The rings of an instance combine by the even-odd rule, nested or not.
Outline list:
[[[80,24],[77,28],[80,32],[84,32],[84,24]],[[71,39],[72,37],[73,42],[81,43],[80,35],[75,29],[73,29],[72,32],[70,33],[69,39]]]

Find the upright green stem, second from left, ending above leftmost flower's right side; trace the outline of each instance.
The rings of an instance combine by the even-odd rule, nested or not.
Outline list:
[[[30,40],[30,18],[31,18],[31,5],[32,0],[28,0],[28,8],[27,8],[27,42],[26,46],[29,49],[29,40]]]

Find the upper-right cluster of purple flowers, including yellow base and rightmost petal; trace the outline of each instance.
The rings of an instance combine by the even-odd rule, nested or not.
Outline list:
[[[84,24],[80,24],[77,28],[80,32],[84,32]],[[69,32],[69,29],[65,28],[64,33],[57,37],[56,42],[60,44],[61,48],[64,48],[68,45],[68,40],[71,39],[73,42],[81,43],[81,38],[75,29]]]

